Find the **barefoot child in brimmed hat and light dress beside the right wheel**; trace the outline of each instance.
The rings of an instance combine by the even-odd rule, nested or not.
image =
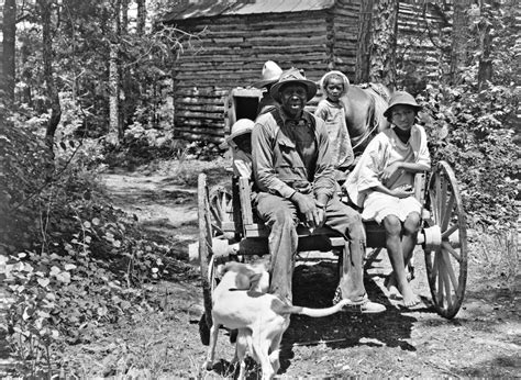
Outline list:
[[[386,248],[392,265],[387,287],[396,287],[406,308],[420,302],[407,279],[421,222],[421,203],[414,198],[414,174],[429,170],[426,134],[415,118],[421,110],[406,91],[396,91],[384,116],[391,128],[375,136],[344,183],[350,199],[363,208],[364,221],[386,230]]]

